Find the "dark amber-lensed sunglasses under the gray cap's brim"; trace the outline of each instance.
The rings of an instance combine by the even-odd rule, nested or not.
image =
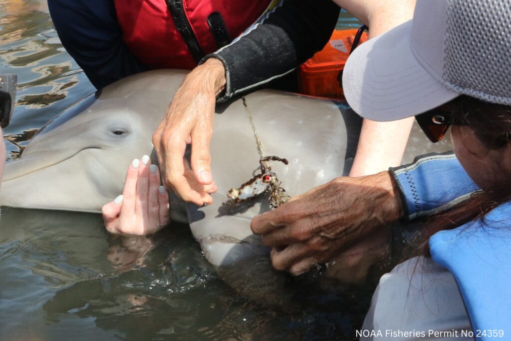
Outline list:
[[[415,116],[422,131],[429,141],[435,143],[442,140],[452,124],[453,111],[442,106]]]

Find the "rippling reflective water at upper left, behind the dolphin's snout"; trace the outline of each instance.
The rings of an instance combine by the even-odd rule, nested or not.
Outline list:
[[[45,1],[0,0],[0,72],[18,75],[16,107],[4,130],[8,159],[27,145],[32,135],[25,132],[95,90],[62,48]]]

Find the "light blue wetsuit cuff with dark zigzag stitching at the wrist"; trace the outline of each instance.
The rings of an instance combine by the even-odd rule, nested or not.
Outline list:
[[[480,190],[452,152],[419,156],[389,171],[401,192],[405,223],[448,210]]]

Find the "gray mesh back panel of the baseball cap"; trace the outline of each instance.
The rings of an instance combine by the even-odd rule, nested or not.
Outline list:
[[[460,94],[511,104],[511,3],[448,2],[445,85]]]

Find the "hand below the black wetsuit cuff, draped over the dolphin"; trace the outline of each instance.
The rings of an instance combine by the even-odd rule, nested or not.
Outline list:
[[[153,135],[165,183],[181,199],[198,206],[212,203],[210,194],[217,190],[210,166],[210,140],[216,96],[224,86],[225,70],[218,59],[197,66],[184,79]],[[192,145],[191,168],[184,158],[187,144]]]

